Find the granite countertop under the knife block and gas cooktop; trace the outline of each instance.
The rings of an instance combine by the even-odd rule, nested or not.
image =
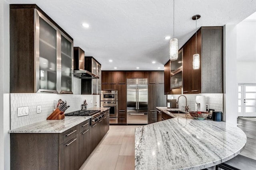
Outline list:
[[[62,133],[83,121],[90,119],[90,116],[66,116],[62,120],[44,120],[31,125],[11,129],[9,133]]]

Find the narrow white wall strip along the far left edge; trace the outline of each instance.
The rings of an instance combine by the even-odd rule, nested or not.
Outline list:
[[[9,4],[0,0],[0,170],[10,169],[10,35]]]

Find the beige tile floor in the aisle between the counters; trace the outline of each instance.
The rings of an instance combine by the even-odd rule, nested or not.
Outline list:
[[[134,170],[135,127],[110,126],[79,170]]]

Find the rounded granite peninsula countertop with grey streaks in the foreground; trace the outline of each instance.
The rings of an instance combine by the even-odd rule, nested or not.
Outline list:
[[[135,170],[209,168],[230,160],[245,144],[244,132],[226,122],[177,116],[135,129]]]

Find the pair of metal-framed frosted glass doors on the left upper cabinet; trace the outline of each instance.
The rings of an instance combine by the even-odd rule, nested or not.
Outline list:
[[[72,94],[73,41],[38,10],[35,17],[35,92]]]

